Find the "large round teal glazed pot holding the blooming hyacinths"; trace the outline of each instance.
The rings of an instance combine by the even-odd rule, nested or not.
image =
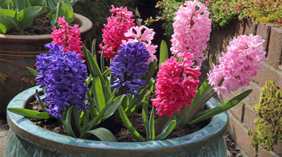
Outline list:
[[[27,89],[8,105],[23,108],[34,101],[35,89]],[[209,108],[218,106],[211,99]],[[7,111],[10,129],[6,157],[226,157],[223,138],[228,127],[226,112],[214,116],[203,129],[174,139],[150,142],[103,142],[77,139],[45,130],[27,118]]]

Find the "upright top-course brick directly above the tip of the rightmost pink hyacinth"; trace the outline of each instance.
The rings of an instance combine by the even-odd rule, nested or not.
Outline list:
[[[269,43],[269,36],[270,36],[270,29],[272,27],[275,27],[275,25],[273,24],[261,24],[260,22],[258,23],[258,28],[257,28],[257,32],[256,35],[261,36],[261,39],[265,40],[265,42],[263,42],[263,48],[264,51],[268,51],[268,43]]]

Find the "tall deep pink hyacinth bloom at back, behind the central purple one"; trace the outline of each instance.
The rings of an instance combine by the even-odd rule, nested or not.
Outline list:
[[[119,46],[122,44],[122,40],[132,39],[132,37],[124,36],[124,33],[135,24],[133,23],[134,19],[130,19],[133,17],[131,11],[127,11],[127,8],[115,8],[113,5],[112,9],[109,11],[112,12],[112,16],[107,19],[108,24],[104,24],[103,32],[103,45],[102,43],[99,45],[100,49],[104,51],[104,57],[112,59],[117,54],[119,50]],[[114,16],[116,14],[116,16]],[[102,53],[102,51],[98,51],[98,53]]]

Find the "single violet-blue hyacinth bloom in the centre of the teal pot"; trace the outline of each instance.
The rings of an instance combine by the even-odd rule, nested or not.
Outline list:
[[[127,43],[120,45],[117,55],[111,64],[111,75],[116,78],[111,90],[118,87],[118,95],[139,93],[134,91],[145,86],[146,80],[138,79],[144,77],[148,71],[148,58],[150,53],[146,50],[143,43]]]

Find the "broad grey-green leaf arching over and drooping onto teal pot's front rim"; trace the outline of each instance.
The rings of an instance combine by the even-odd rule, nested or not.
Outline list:
[[[93,129],[90,131],[86,131],[79,138],[84,139],[86,134],[92,134],[98,137],[101,141],[109,141],[109,142],[117,142],[117,139],[115,136],[109,131],[108,129],[105,129],[103,127],[99,127],[97,129]]]

